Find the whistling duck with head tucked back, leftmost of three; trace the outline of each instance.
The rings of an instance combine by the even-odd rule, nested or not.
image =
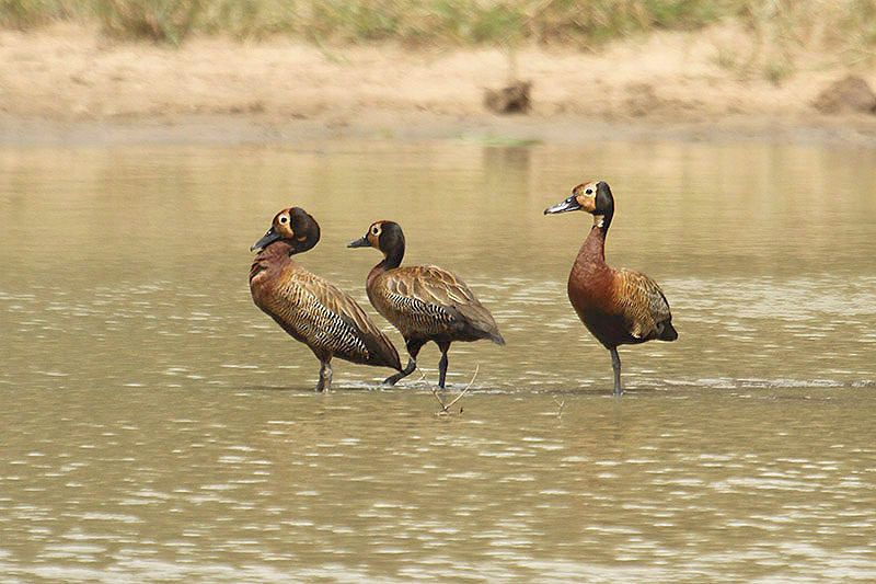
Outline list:
[[[320,359],[316,391],[332,389],[332,357],[401,371],[395,347],[356,300],[292,261],[292,254],[319,240],[320,226],[304,209],[291,207],[274,217],[265,237],[250,248],[261,248],[250,268],[255,306]]]

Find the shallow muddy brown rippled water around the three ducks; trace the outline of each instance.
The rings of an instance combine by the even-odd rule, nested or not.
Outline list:
[[[876,152],[762,144],[325,142],[0,150],[4,582],[876,580]],[[565,297],[607,256],[676,343],[622,347]],[[377,219],[471,285],[508,345],[319,365],[250,299],[299,205],[300,263],[366,306]],[[385,327],[402,346],[400,336]],[[475,376],[476,370],[476,376]],[[460,413],[460,408],[462,412]]]

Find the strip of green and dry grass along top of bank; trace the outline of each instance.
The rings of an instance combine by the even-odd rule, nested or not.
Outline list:
[[[65,20],[97,23],[123,39],[171,45],[206,34],[285,35],[321,45],[538,43],[580,49],[731,20],[758,43],[835,51],[846,62],[871,60],[876,50],[876,0],[0,0],[2,27]]]

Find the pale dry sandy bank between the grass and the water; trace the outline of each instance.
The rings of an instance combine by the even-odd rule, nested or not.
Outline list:
[[[658,33],[600,53],[526,47],[528,115],[496,115],[487,88],[511,77],[508,51],[321,50],[287,39],[195,38],[173,49],[117,43],[81,25],[0,31],[0,145],[270,142],[331,137],[833,140],[876,148],[876,115],[826,115],[819,93],[850,71],[835,56],[793,56],[771,82],[744,31]],[[726,59],[725,59],[726,60]],[[853,71],[876,87],[876,67]]]

